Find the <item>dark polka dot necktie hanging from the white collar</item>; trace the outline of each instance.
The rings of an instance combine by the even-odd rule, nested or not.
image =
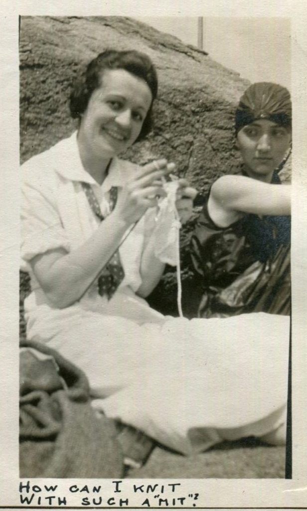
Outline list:
[[[92,212],[102,222],[105,217],[101,213],[98,200],[93,192],[93,189],[89,183],[82,183],[82,188],[85,191],[85,195],[89,202]],[[110,190],[110,212],[114,210],[117,201],[117,187],[112,187]],[[104,269],[101,271],[98,277],[98,293],[100,296],[107,296],[110,300],[118,288],[119,284],[123,280],[124,271],[121,266],[119,251],[118,249],[112,255],[109,262],[106,264]]]

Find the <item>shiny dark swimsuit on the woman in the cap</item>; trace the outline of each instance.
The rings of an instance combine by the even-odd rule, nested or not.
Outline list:
[[[280,184],[277,173],[271,182]],[[190,242],[201,298],[197,311],[189,310],[188,315],[290,314],[291,217],[248,214],[219,227],[208,213],[209,195]]]

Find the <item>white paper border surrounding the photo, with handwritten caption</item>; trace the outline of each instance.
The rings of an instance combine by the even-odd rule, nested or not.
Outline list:
[[[64,4],[64,5],[63,5]],[[5,0],[1,6],[2,48],[2,192],[0,201],[1,229],[1,316],[2,326],[2,392],[1,392],[1,474],[0,508],[20,508],[18,477],[18,314],[19,314],[19,75],[18,15],[123,15],[123,16],[235,16],[291,17],[292,22],[292,98],[293,98],[293,221],[292,221],[292,479],[176,479],[186,493],[198,493],[197,508],[306,508],[307,502],[307,435],[306,430],[306,348],[307,339],[307,4],[304,0],[284,3],[271,0],[195,1],[192,6],[177,2],[141,0],[61,1]],[[281,56],[282,58],[282,56]],[[273,363],[273,361],[272,361]],[[79,481],[86,484],[87,480]],[[141,480],[141,482],[146,480]],[[32,480],[33,484],[44,484]],[[59,494],[67,493],[69,480],[48,480],[58,484]],[[89,485],[99,482],[88,481]],[[137,508],[132,482],[123,480],[123,495]],[[166,484],[171,480],[149,482]],[[73,483],[78,484],[74,480]],[[101,483],[101,481],[100,481]],[[106,491],[114,485],[104,480]],[[131,492],[131,497],[130,497]],[[76,504],[73,503],[73,508]],[[24,506],[23,506],[24,507]],[[41,506],[38,506],[41,507]],[[52,508],[52,506],[47,506]],[[61,506],[65,507],[65,506]],[[112,506],[117,508],[116,506]],[[162,507],[160,507],[162,508]],[[172,508],[171,505],[168,508]],[[184,509],[185,507],[181,507]],[[195,507],[193,507],[195,508]]]

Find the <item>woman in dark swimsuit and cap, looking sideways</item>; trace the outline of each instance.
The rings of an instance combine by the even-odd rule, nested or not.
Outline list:
[[[243,164],[214,182],[199,217],[191,253],[201,298],[190,315],[290,314],[291,187],[275,185],[291,120],[285,87],[255,83],[241,97],[235,130]]]

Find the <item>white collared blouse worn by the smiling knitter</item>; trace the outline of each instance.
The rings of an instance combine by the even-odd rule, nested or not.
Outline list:
[[[82,166],[76,132],[22,165],[21,257],[22,269],[30,273],[32,289],[30,297],[25,300],[27,319],[30,312],[33,316],[42,305],[45,306],[44,314],[46,308],[49,312],[56,311],[48,303],[28,262],[47,250],[61,247],[69,252],[78,248],[92,236],[99,225],[100,221],[91,210],[81,182],[92,185],[101,213],[106,216],[110,213],[110,189],[116,186],[120,193],[124,183],[137,169],[137,165],[114,157],[107,177],[103,184],[99,185]],[[136,297],[135,291],[142,283],[139,272],[141,255],[152,233],[155,213],[154,208],[148,210],[131,233],[129,234],[130,227],[123,236],[124,241],[119,248],[119,254],[124,279],[120,283],[116,299],[111,300],[113,307],[118,301],[119,291],[137,299],[142,308],[146,304],[145,300]],[[80,303],[86,309],[97,311],[98,308],[99,312],[103,312],[101,309],[103,306],[103,309],[106,309],[104,313],[108,313],[107,309],[110,312],[108,299],[97,293],[97,281],[81,298]],[[161,316],[156,311],[152,312],[154,316]],[[120,315],[122,314],[123,312],[120,312]]]

